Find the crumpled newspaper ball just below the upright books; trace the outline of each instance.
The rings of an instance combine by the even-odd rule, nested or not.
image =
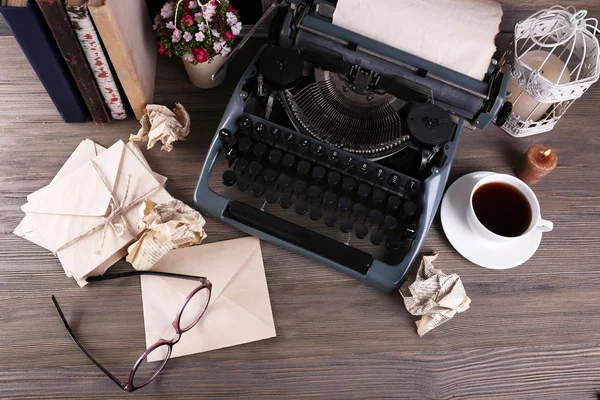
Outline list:
[[[163,144],[160,149],[171,151],[173,142],[184,140],[190,133],[190,115],[179,103],[175,103],[173,111],[158,104],[148,104],[140,124],[138,133],[130,135],[129,140],[148,141],[148,150],[160,140]]]

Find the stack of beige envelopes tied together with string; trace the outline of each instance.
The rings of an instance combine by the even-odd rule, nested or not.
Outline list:
[[[54,253],[80,286],[127,254],[142,233],[139,205],[172,199],[166,178],[140,149],[118,141],[108,149],[84,140],[50,184],[27,196],[14,233]]]

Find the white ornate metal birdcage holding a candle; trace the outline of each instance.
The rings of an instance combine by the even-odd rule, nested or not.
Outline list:
[[[507,101],[512,115],[502,126],[512,136],[547,132],[598,80],[598,20],[587,11],[554,6],[515,25],[501,62],[512,65]]]

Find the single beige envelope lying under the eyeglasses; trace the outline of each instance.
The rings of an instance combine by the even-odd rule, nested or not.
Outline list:
[[[173,346],[172,357],[275,337],[275,323],[260,250],[254,237],[173,250],[153,271],[204,276],[213,284],[206,314]],[[171,339],[177,311],[198,285],[186,279],[142,276],[146,344]],[[164,359],[155,351],[148,361]]]

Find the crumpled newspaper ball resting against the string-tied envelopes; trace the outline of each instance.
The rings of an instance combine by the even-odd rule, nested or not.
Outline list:
[[[144,200],[138,228],[144,233],[127,248],[126,260],[138,271],[151,269],[172,249],[198,244],[206,237],[204,218],[183,202],[159,204]]]

